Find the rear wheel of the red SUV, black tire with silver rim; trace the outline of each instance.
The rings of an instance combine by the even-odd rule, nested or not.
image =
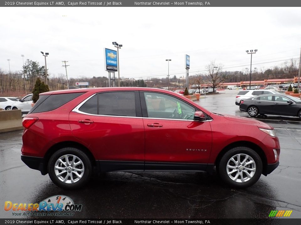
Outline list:
[[[58,162],[61,157],[64,164]],[[74,167],[72,165],[72,160]],[[69,162],[70,165],[67,162]],[[55,170],[55,166],[64,169]],[[92,163],[88,156],[83,151],[77,148],[61,148],[50,157],[48,163],[48,173],[52,182],[55,183],[55,185],[57,185],[58,187],[68,190],[78,189],[83,187],[90,180],[92,175]],[[56,175],[58,173],[62,173],[59,178]],[[79,176],[76,174],[81,177],[79,178]],[[65,182],[62,181],[63,178],[66,178]],[[75,182],[72,183],[71,180]]]

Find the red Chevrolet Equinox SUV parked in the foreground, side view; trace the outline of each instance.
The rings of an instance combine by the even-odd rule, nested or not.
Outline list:
[[[249,187],[279,164],[271,126],[161,89],[42,93],[23,126],[22,161],[65,189],[95,171],[216,170],[228,185]]]

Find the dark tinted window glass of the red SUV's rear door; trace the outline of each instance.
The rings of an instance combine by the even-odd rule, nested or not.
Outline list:
[[[87,100],[79,111],[95,115],[136,117],[135,92],[105,92]]]

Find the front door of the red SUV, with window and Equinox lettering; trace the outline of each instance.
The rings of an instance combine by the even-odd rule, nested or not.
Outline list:
[[[211,146],[210,122],[194,121],[196,108],[172,95],[140,92],[145,128],[145,170],[203,170]]]

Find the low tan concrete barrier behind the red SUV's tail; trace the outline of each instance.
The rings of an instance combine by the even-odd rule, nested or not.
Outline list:
[[[23,126],[20,109],[0,111],[0,133],[21,129],[23,129]]]

